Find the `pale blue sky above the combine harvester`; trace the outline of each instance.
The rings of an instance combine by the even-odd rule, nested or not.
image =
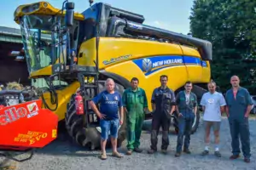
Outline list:
[[[82,13],[86,8],[89,8],[88,0],[69,1],[75,3],[76,12]],[[19,28],[14,21],[15,9],[21,4],[37,2],[39,1],[7,0],[7,2],[2,3],[0,26]],[[48,0],[47,2],[55,8],[61,8],[63,0]],[[189,14],[193,3],[192,0],[94,0],[94,3],[100,2],[108,3],[115,8],[122,8],[133,13],[143,14],[145,18],[144,24],[146,25],[183,34],[189,32]]]

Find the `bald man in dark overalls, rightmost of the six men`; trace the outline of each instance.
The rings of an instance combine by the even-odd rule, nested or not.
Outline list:
[[[239,77],[230,78],[232,88],[225,94],[227,103],[226,114],[230,122],[230,133],[232,138],[232,156],[231,160],[237,159],[240,154],[239,138],[241,139],[241,150],[244,161],[250,162],[250,131],[248,117],[252,109],[253,101],[246,88],[239,85]]]

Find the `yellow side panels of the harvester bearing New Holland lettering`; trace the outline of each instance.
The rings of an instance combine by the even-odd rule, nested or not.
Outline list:
[[[83,57],[79,59],[79,65],[95,65],[95,44],[95,38],[82,43],[80,53]],[[148,101],[154,88],[160,86],[160,75],[169,77],[168,87],[174,91],[186,81],[209,82],[211,77],[208,61],[202,61],[195,48],[127,38],[100,38],[99,70],[128,81],[137,77]]]

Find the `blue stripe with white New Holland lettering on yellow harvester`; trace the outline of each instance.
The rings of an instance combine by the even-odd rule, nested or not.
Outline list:
[[[143,59],[134,59],[133,62],[144,72],[145,76],[166,67],[177,65],[201,65],[207,67],[206,61],[190,56],[154,56]]]

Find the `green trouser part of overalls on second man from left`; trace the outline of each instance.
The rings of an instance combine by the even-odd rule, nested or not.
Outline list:
[[[143,105],[133,105],[126,114],[127,121],[127,149],[134,150],[140,145],[143,121],[145,118]]]

